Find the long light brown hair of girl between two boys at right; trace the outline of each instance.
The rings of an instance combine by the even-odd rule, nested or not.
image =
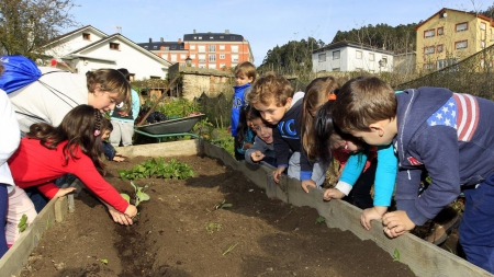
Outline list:
[[[329,95],[335,94],[339,88],[338,81],[334,77],[328,76],[314,79],[305,89],[302,103],[301,136],[302,147],[310,160],[314,160],[319,154],[316,147],[317,138],[314,127],[315,114],[329,100]]]

